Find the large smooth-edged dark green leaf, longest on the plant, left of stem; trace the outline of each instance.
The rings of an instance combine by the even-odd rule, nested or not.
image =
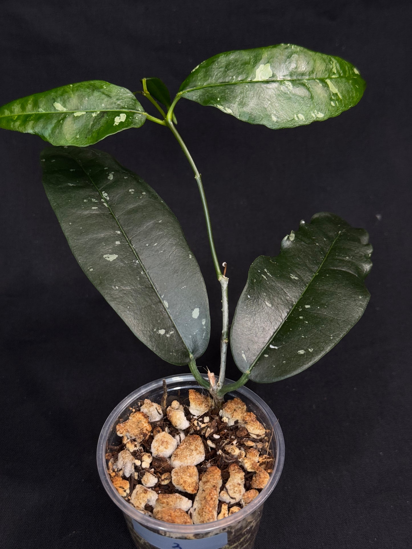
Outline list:
[[[77,147],[42,153],[43,184],[81,268],[132,332],[187,364],[208,345],[202,274],[172,211],[112,156]]]

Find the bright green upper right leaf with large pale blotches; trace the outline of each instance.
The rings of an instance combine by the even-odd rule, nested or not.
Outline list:
[[[364,89],[347,61],[279,44],[215,55],[191,72],[179,94],[277,129],[337,116],[356,105]]]

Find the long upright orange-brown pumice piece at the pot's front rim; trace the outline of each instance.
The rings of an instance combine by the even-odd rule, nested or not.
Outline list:
[[[204,524],[218,519],[219,492],[222,486],[220,469],[211,466],[199,482],[199,490],[193,502],[193,524]]]

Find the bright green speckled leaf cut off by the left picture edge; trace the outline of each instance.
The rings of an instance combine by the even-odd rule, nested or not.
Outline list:
[[[126,88],[78,82],[16,99],[0,108],[0,127],[34,133],[52,145],[85,147],[144,124],[142,105]]]

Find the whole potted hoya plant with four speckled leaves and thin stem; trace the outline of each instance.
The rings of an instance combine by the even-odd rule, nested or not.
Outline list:
[[[4,105],[0,126],[53,145],[41,154],[43,184],[82,270],[145,345],[188,365],[219,406],[248,379],[293,376],[338,343],[368,304],[372,248],[366,231],[337,215],[300,221],[279,255],[253,262],[229,329],[226,265],[215,249],[201,174],[176,129],[176,105],[189,99],[250,124],[294,128],[353,107],[365,82],[347,61],[291,44],[215,55],[192,70],[174,99],[158,78],[141,82],[136,93],[101,80],[36,93]],[[146,121],[177,139],[199,189],[223,313],[220,371],[208,380],[196,364],[209,342],[208,296],[179,222],[141,177],[89,148]],[[225,384],[229,343],[241,376]]]

